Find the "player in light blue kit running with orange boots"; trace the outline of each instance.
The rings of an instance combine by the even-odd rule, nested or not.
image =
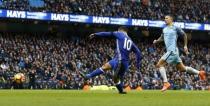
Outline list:
[[[198,74],[200,76],[200,79],[204,80],[206,78],[204,71],[198,71],[192,67],[185,66],[182,63],[181,58],[179,57],[179,51],[177,48],[178,36],[184,37],[184,52],[186,54],[189,54],[187,48],[187,35],[185,34],[185,32],[181,28],[174,26],[173,17],[170,15],[165,16],[165,23],[166,26],[163,28],[163,34],[157,40],[153,41],[154,44],[164,41],[167,51],[156,65],[164,82],[161,91],[165,91],[170,88],[170,83],[167,80],[166,70],[164,68],[164,65],[167,63],[175,64],[177,69],[180,71],[187,71],[190,73]]]

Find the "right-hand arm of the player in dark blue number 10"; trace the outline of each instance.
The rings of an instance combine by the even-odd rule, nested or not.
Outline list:
[[[141,52],[135,44],[133,44],[132,50],[136,55],[136,67],[139,70],[140,69],[140,62],[141,62]]]

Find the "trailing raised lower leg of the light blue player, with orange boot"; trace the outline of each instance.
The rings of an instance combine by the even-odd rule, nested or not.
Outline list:
[[[196,70],[196,69],[194,69],[192,67],[184,66],[183,63],[177,64],[177,68],[179,70],[181,70],[181,71],[186,71],[186,72],[189,72],[189,73],[197,74],[197,75],[199,75],[201,80],[205,80],[206,79],[206,73],[205,73],[204,70],[198,71],[198,70]]]

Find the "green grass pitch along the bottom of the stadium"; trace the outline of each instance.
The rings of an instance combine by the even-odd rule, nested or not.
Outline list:
[[[210,92],[0,90],[0,106],[210,106]]]

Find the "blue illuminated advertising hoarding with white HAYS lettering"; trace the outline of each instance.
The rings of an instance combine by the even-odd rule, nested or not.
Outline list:
[[[165,26],[165,23],[162,20],[143,20],[143,19],[131,19],[131,18],[57,14],[57,13],[47,13],[47,12],[16,11],[16,10],[3,10],[3,9],[0,9],[0,17],[64,21],[64,22],[66,21],[66,22],[79,22],[79,23],[97,23],[97,24],[110,24],[110,25],[157,27],[157,28],[162,28]],[[175,22],[175,25],[183,29],[210,31],[210,24]]]

